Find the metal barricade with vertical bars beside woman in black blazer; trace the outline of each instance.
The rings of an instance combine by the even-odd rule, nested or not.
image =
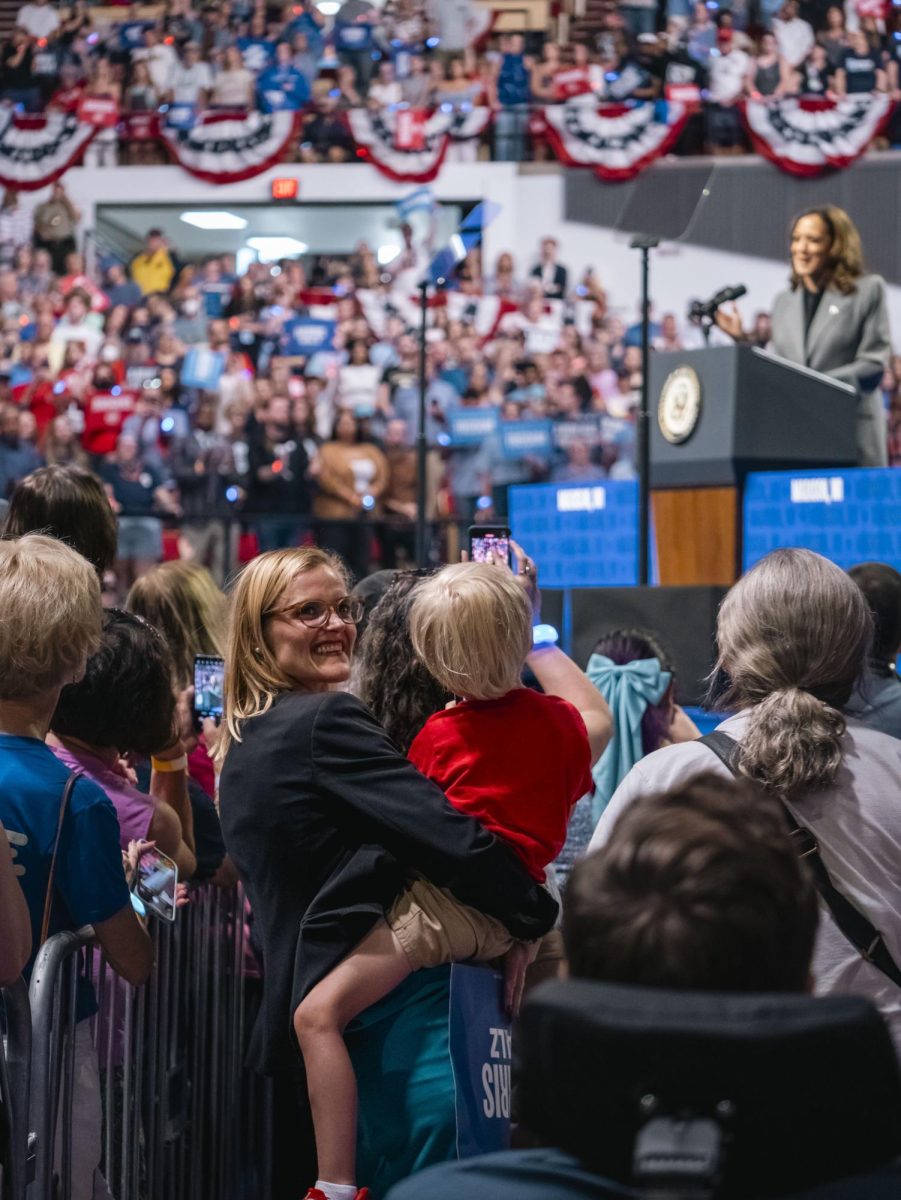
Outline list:
[[[36,1170],[28,1200],[77,1200],[73,1148],[84,1175],[95,1133],[98,1170],[116,1200],[269,1193],[268,1085],[244,1069],[244,893],[204,886],[191,895],[174,923],[151,918],[155,967],[143,988],[115,976],[91,930],[59,934],[42,948],[31,982]],[[96,1012],[77,1022],[77,1000],[84,1013],[90,984]],[[85,1126],[84,1087],[95,1067],[102,1130]]]

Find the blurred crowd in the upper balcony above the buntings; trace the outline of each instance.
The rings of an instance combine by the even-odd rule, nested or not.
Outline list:
[[[311,0],[168,0],[162,17],[104,10],[96,22],[82,0],[65,13],[30,0],[0,50],[0,97],[98,125],[92,164],[166,161],[149,118],[185,127],[209,109],[302,112],[296,160],[344,162],[356,152],[349,109],[487,106],[486,156],[541,157],[551,150],[530,110],[591,97],[695,103],[677,152],[743,152],[743,97],[901,95],[897,8],[878,7],[611,2],[584,38],[561,44],[549,31],[493,34],[475,0],[346,0],[329,18]],[[450,149],[480,152],[477,138]]]

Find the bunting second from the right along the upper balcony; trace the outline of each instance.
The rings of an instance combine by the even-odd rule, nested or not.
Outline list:
[[[633,179],[679,139],[691,109],[677,101],[589,104],[542,110],[540,132],[569,167],[590,167],[599,179]]]

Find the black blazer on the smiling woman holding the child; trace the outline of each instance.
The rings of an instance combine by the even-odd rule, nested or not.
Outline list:
[[[241,732],[220,814],[263,949],[258,1069],[290,1062],[294,1009],[384,916],[409,871],[515,937],[552,926],[557,905],[516,854],[457,812],[359,700],[287,692]]]

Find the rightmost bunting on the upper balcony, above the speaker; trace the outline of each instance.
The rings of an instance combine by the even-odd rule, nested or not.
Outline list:
[[[743,106],[755,150],[792,175],[821,175],[849,167],[878,137],[891,100],[863,92],[840,100],[786,96]]]

